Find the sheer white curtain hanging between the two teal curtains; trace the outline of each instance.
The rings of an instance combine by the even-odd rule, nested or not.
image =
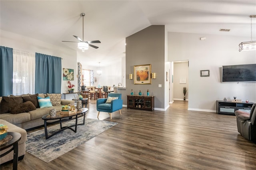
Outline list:
[[[13,49],[13,95],[35,93],[35,53]]]

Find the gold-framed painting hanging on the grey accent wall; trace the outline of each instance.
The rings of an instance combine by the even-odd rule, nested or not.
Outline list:
[[[151,84],[151,64],[134,65],[134,84]]]

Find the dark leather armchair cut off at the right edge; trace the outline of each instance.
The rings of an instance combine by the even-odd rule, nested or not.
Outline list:
[[[246,139],[256,142],[256,103],[250,113],[235,111],[238,132]]]

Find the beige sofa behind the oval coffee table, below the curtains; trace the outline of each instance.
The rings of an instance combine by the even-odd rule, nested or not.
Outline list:
[[[13,125],[16,125],[23,129],[29,129],[33,127],[38,127],[40,125],[44,125],[44,121],[42,120],[42,116],[49,114],[50,109],[56,109],[56,111],[60,111],[62,109],[62,105],[74,105],[74,101],[72,100],[63,100],[61,99],[61,94],[36,94],[36,96],[45,98],[50,97],[52,107],[46,107],[46,108],[36,108],[32,111],[27,111],[24,113],[2,113],[0,114],[0,119],[3,119],[9,123],[12,123]],[[35,95],[21,95],[21,96],[10,96],[10,97],[19,97],[22,98],[23,101],[27,101],[29,97],[35,99]],[[1,103],[1,110],[2,110],[2,104],[6,105],[6,103],[2,102],[3,98],[6,97],[0,97],[0,103]],[[7,99],[6,99],[7,100]],[[54,101],[55,100],[55,101]],[[56,102],[57,101],[57,102]],[[36,101],[32,100],[32,103],[36,103]],[[13,104],[13,102],[12,102]],[[18,104],[22,105],[22,104]],[[16,106],[18,106],[16,104]],[[36,104],[35,104],[36,105]],[[14,107],[10,105],[10,111]],[[8,107],[7,107],[8,108]],[[13,109],[14,110],[14,109]]]

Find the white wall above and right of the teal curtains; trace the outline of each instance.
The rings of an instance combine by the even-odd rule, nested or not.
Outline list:
[[[71,81],[75,85],[75,91],[77,88],[77,62],[76,51],[52,45],[49,43],[41,42],[32,38],[14,34],[11,32],[1,31],[0,45],[18,49],[22,51],[29,51],[34,53],[43,53],[47,55],[53,55],[63,58],[62,68],[74,69],[74,81]],[[67,81],[62,80],[61,93],[67,93]]]

